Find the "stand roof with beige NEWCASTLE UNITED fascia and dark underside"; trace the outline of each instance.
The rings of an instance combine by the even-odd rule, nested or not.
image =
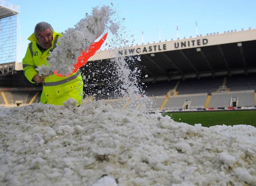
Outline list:
[[[256,29],[235,30],[99,51],[90,58],[90,68],[115,57],[140,55],[136,62],[142,81],[200,78],[256,72],[255,54]],[[85,74],[91,71],[88,68]]]

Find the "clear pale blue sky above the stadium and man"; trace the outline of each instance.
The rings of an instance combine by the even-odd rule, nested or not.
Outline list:
[[[38,22],[45,21],[55,31],[64,32],[92,14],[92,8],[107,5],[113,7],[134,44],[153,43],[195,37],[198,34],[223,33],[224,31],[256,28],[256,0],[6,0],[20,5],[18,15],[20,42],[17,61],[25,55],[27,38]],[[113,6],[111,5],[113,4]],[[143,39],[142,39],[143,31]],[[20,43],[20,44],[19,44]],[[19,50],[20,49],[20,50]]]

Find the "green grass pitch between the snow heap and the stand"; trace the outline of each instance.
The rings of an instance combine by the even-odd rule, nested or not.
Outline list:
[[[225,110],[225,111],[200,111],[200,112],[169,112],[174,121],[190,125],[252,125],[256,127],[256,110]]]

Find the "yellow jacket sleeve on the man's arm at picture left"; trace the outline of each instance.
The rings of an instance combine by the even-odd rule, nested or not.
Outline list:
[[[29,46],[27,48],[27,52],[25,54],[25,57],[22,60],[22,66],[23,66],[23,71],[26,76],[26,78],[31,82],[35,83],[32,79],[33,77],[38,74],[38,71],[36,71],[36,65],[33,60],[33,57],[30,53]]]

